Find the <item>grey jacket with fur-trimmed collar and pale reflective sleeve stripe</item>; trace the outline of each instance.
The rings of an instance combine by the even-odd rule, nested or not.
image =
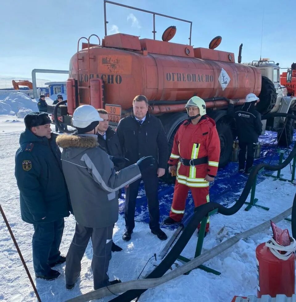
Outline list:
[[[108,227],[118,220],[118,190],[141,178],[138,165],[116,172],[96,135],[60,135],[62,165],[76,221]]]

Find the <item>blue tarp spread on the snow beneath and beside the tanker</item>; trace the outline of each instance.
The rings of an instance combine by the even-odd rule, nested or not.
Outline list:
[[[270,165],[276,165],[279,161],[278,150],[276,149],[277,144],[277,133],[272,131],[266,131],[265,135],[259,137],[261,142],[261,153],[260,158],[254,161],[254,165],[259,163],[268,163]],[[296,139],[296,132],[294,133],[294,139]],[[290,146],[290,149],[292,147]],[[284,157],[288,155],[288,150]],[[215,181],[210,186],[210,201],[218,202],[224,206],[235,202],[240,196],[235,194],[242,190],[248,179],[248,176],[238,173],[238,163],[230,162],[226,167],[220,168]],[[265,172],[266,173],[266,172]],[[257,183],[262,182],[267,176],[265,173],[261,173],[257,177]],[[269,174],[272,174],[268,172]],[[171,202],[174,193],[174,185],[168,185],[164,182],[159,182],[158,197],[159,197],[159,209],[160,209],[160,223],[166,218],[171,209]],[[124,195],[122,195],[124,198]],[[189,191],[185,215],[190,215],[194,210],[194,202]],[[124,199],[119,201],[119,212],[124,214]],[[147,199],[145,195],[143,182],[140,184],[139,194],[136,203],[135,221],[149,222],[149,213],[147,207]],[[165,226],[166,228],[175,228],[176,226]]]

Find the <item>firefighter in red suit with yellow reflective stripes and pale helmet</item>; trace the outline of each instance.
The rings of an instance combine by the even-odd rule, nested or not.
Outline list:
[[[175,135],[168,161],[169,172],[176,175],[176,183],[170,216],[164,220],[165,224],[182,220],[189,189],[195,207],[209,202],[209,184],[214,181],[219,165],[220,139],[215,121],[206,116],[204,100],[193,96],[185,108],[189,118]]]

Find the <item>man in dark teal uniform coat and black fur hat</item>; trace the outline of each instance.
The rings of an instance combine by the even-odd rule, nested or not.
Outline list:
[[[21,215],[35,230],[32,250],[36,278],[54,280],[60,272],[51,267],[66,261],[59,248],[64,217],[69,216],[71,208],[61,152],[47,113],[31,112],[24,122],[26,130],[20,136],[20,148],[15,155]]]

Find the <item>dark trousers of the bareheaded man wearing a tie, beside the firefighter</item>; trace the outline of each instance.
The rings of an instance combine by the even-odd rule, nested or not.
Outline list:
[[[154,173],[145,173],[142,176],[149,210],[149,227],[151,230],[159,229],[159,201],[158,201],[158,177],[156,171]],[[131,183],[125,190],[125,208],[124,218],[125,227],[128,230],[133,230],[135,227],[135,208],[138,196],[138,190],[141,179]]]

